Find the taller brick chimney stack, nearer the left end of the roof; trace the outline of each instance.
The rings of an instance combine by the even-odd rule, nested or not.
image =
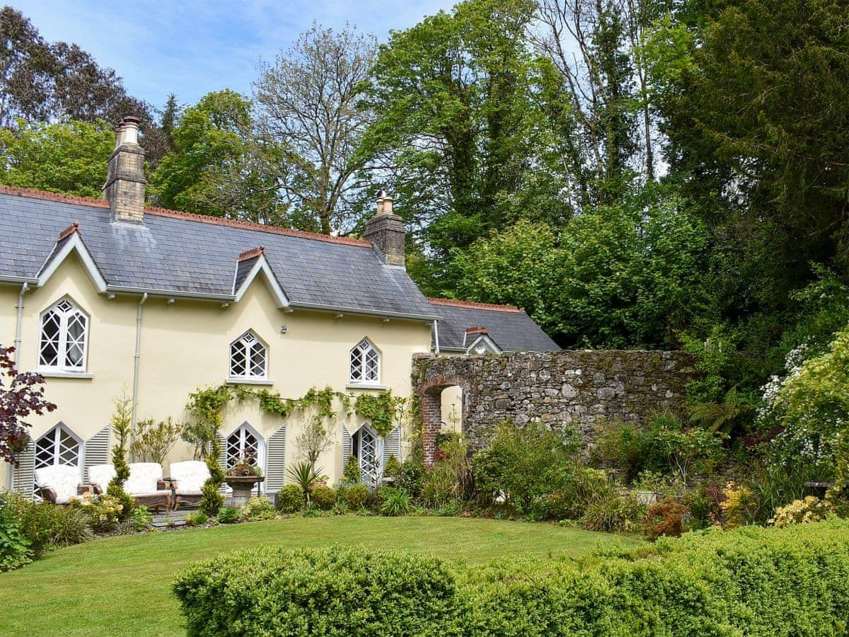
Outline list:
[[[104,199],[112,209],[112,221],[144,221],[144,149],[138,145],[138,117],[127,116],[115,128],[115,150],[109,158]]]

